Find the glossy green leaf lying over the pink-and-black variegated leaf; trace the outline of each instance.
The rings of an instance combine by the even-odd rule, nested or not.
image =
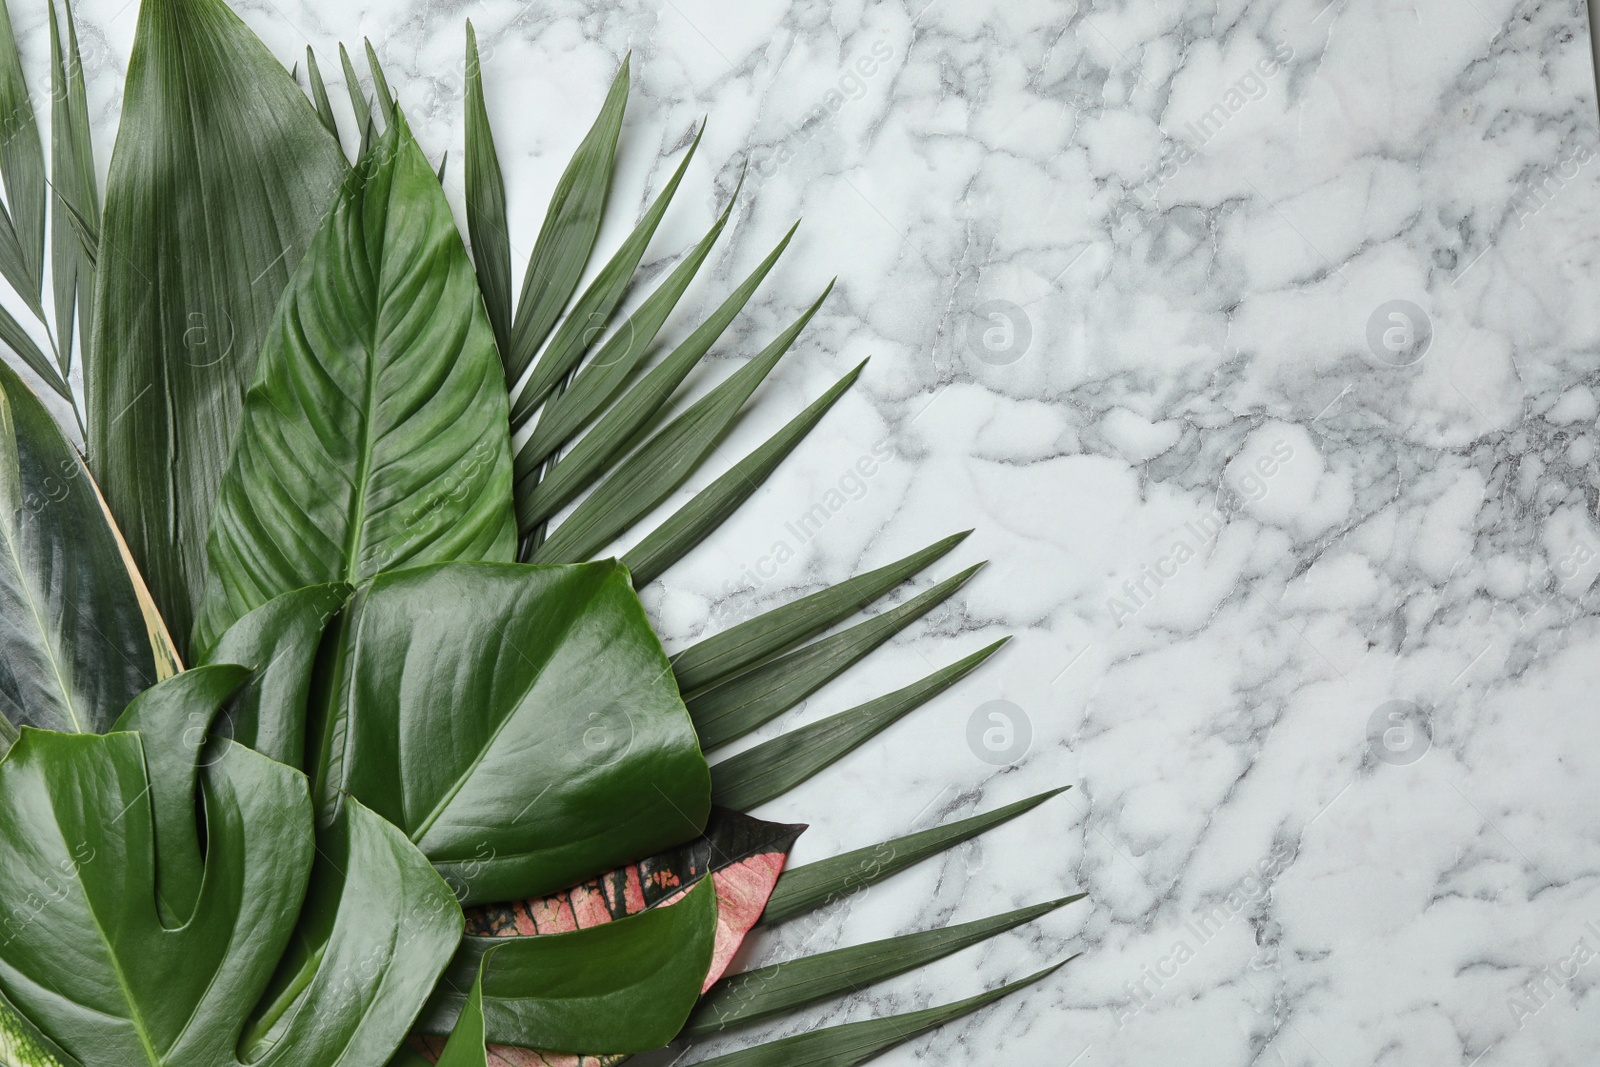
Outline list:
[[[683,1027],[710,968],[717,894],[701,880],[685,897],[611,923],[502,939],[482,955],[483,1038],[557,1053],[645,1053]],[[453,968],[454,969],[454,968]],[[450,982],[421,1025],[448,1032],[462,1014]],[[448,1051],[448,1045],[446,1045]]]

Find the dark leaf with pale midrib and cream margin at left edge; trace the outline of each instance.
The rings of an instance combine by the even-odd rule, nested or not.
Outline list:
[[[90,472],[0,365],[0,750],[8,726],[24,723],[104,731],[155,680],[134,581]]]

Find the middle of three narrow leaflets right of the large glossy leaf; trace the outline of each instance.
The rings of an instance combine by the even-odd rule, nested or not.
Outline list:
[[[787,712],[874,648],[944,603],[981,566],[981,563],[970,566],[866,622],[770,659],[690,697],[686,701],[690,718],[694,720],[701,747],[710,750],[736,741]]]

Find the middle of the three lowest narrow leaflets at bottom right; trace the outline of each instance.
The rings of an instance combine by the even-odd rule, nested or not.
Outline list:
[[[960,952],[1022,923],[1030,923],[1067,904],[1082,901],[1085,896],[1078,893],[971,923],[819,952],[734,974],[717,982],[701,998],[694,1016],[683,1027],[683,1037],[706,1037],[861,992],[867,985],[906,974],[934,960],[942,960],[952,952]]]

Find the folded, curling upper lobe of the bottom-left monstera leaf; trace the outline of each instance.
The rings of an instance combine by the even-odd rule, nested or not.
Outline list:
[[[186,670],[141,693],[112,726],[144,737],[155,817],[155,904],[168,929],[194,915],[205,873],[195,822],[200,750],[222,702],[248,677],[248,667],[232,664]]]

